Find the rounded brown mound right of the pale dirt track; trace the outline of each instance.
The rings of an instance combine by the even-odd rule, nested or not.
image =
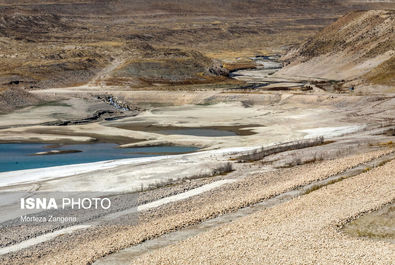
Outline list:
[[[200,52],[152,48],[140,58],[128,60],[115,69],[107,83],[195,84],[220,81],[226,75],[225,69]]]

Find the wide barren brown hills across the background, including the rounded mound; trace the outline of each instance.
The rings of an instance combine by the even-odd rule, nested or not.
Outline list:
[[[108,75],[120,85],[221,81],[210,75],[210,64],[217,59],[282,52],[284,45],[300,43],[347,11],[377,6],[395,4],[0,0],[0,85],[78,86],[112,69],[114,60],[125,63]],[[188,56],[164,56],[168,49]],[[171,71],[166,70],[169,65]]]

